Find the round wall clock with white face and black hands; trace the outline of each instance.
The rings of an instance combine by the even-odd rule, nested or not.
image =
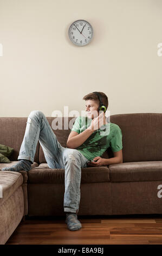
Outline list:
[[[85,20],[77,20],[69,27],[69,38],[77,46],[88,45],[93,37],[93,28]]]

